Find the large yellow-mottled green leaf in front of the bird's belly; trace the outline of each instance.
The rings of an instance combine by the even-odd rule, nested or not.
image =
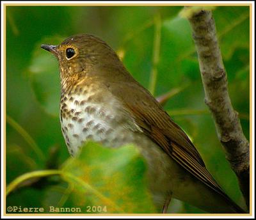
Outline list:
[[[106,206],[108,213],[154,213],[145,171],[145,162],[132,145],[113,149],[86,143],[79,156],[63,166],[63,177],[74,185],[68,207],[81,207],[84,212],[88,206]]]

